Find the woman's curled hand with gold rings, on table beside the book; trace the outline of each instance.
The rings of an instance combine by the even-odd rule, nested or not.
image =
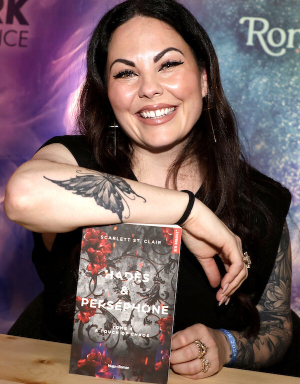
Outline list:
[[[197,358],[199,349],[194,342],[200,340],[208,348],[205,355],[210,366],[201,372],[202,361]],[[230,361],[230,345],[224,334],[203,324],[194,324],[172,337],[170,363],[174,372],[188,378],[203,378],[219,371]]]

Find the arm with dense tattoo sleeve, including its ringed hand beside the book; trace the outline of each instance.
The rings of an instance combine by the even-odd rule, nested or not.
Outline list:
[[[289,346],[292,325],[290,316],[291,254],[288,228],[283,226],[273,270],[257,304],[260,330],[247,338],[245,332],[230,331],[237,346],[237,356],[232,365],[237,368],[259,369],[280,361]],[[202,363],[197,359],[198,348],[193,342],[201,340],[210,361],[206,373],[200,372]],[[231,347],[223,332],[203,324],[195,324],[173,335],[171,364],[175,372],[190,378],[214,374],[231,360]]]

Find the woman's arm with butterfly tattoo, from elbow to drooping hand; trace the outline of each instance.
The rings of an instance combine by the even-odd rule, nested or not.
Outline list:
[[[63,145],[50,144],[12,175],[4,209],[11,220],[31,231],[57,233],[121,221],[175,223],[187,203],[186,193],[79,167]],[[186,246],[212,286],[220,283],[212,257],[219,254],[225,265],[217,300],[232,294],[247,276],[240,239],[197,199],[182,228]]]

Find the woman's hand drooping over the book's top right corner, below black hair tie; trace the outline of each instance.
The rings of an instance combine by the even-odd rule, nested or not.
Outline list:
[[[226,274],[216,298],[220,303],[226,302],[248,275],[239,237],[197,199],[182,229],[184,244],[201,264],[212,287],[220,284],[220,273],[213,256],[218,254],[221,258]]]

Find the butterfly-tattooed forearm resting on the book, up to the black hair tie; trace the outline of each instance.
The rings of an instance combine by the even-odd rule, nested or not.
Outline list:
[[[9,180],[7,216],[35,232],[101,224],[175,223],[188,195],[75,165],[32,159]]]

